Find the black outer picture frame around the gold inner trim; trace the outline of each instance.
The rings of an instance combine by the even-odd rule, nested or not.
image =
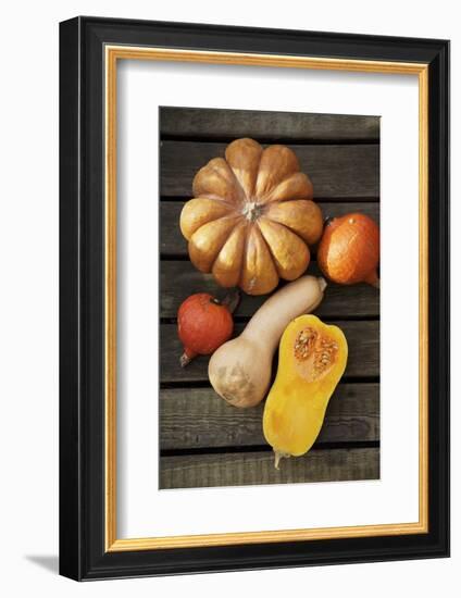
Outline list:
[[[428,65],[428,533],[105,551],[108,43]],[[60,573],[83,581],[448,557],[449,42],[79,16],[60,25]]]

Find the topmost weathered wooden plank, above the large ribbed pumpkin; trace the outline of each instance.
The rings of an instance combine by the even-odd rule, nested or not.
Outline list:
[[[166,107],[160,109],[160,135],[209,139],[252,137],[260,141],[377,141],[379,117]]]

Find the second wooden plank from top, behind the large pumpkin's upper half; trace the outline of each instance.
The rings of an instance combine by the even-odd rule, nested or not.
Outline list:
[[[224,155],[226,144],[161,141],[160,195],[190,198],[197,171]],[[289,146],[312,179],[317,199],[379,197],[379,146]]]

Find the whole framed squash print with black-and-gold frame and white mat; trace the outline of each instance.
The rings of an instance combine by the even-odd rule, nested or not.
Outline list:
[[[449,553],[449,42],[60,28],[60,571]]]

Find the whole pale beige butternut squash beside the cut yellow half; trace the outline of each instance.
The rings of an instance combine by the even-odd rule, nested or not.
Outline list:
[[[297,315],[322,301],[324,278],[302,276],[274,292],[256,312],[239,337],[222,345],[210,359],[214,390],[235,407],[253,407],[264,398],[272,359],[282,333]]]

